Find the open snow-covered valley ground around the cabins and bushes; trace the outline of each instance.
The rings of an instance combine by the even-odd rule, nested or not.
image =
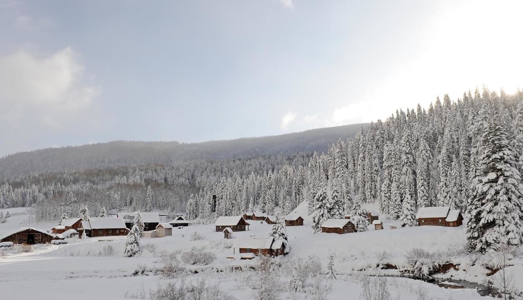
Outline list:
[[[329,254],[334,255],[337,273],[335,280],[323,281],[331,284],[328,299],[359,299],[361,275],[399,275],[408,267],[406,253],[413,248],[423,248],[431,252],[447,255],[449,262],[460,264],[459,270],[438,274],[445,279],[460,279],[482,283],[487,279],[488,270],[472,266],[475,256],[464,251],[465,228],[414,227],[400,228],[395,221],[384,220],[383,230],[337,234],[313,234],[311,220],[306,216],[306,206],[300,205],[299,212],[305,216],[305,225],[287,227],[291,253],[285,257],[272,259],[277,263],[287,261],[307,261],[316,257],[326,272]],[[5,214],[6,210],[2,210]],[[0,224],[0,238],[20,227],[34,227],[49,230],[54,224],[34,224],[25,208],[9,209],[7,223]],[[241,299],[254,298],[253,290],[246,280],[256,281],[255,271],[246,271],[245,266],[257,266],[258,258],[252,261],[228,259],[234,252],[234,238],[251,236],[267,237],[271,225],[260,221],[248,221],[248,231],[233,232],[232,240],[223,239],[222,232],[215,232],[212,225],[196,225],[173,228],[173,236],[165,238],[142,238],[143,253],[134,258],[124,258],[123,248],[126,237],[115,237],[112,241],[98,241],[97,238],[66,239],[66,245],[37,245],[34,252],[15,253],[0,256],[0,298],[25,298],[38,295],[39,299],[74,297],[75,299],[123,299],[126,292],[154,290],[158,284],[176,279],[166,279],[157,273],[161,269],[164,253],[191,251],[191,248],[204,248],[213,252],[216,258],[205,266],[184,265],[185,274],[177,275],[178,281],[184,277],[187,282],[202,278],[210,283],[218,283],[222,290]],[[397,229],[390,229],[390,225]],[[200,240],[191,240],[194,233]],[[110,247],[109,247],[110,246]],[[110,248],[113,253],[110,253]],[[0,250],[2,251],[2,250]],[[380,263],[395,265],[398,269],[381,269]],[[516,276],[516,283],[523,286],[523,261],[513,260],[507,269]],[[244,271],[231,271],[243,267]],[[283,286],[288,286],[289,275],[283,270],[278,273]],[[146,270],[142,275],[133,275],[136,270]],[[198,273],[196,273],[197,271]],[[220,272],[217,272],[220,271]],[[195,274],[196,273],[196,274]],[[319,275],[326,280],[326,275]],[[393,299],[489,299],[481,297],[473,289],[443,288],[435,284],[407,278],[389,277],[388,285]],[[451,285],[451,284],[450,284]],[[30,288],[28,288],[30,287]],[[312,288],[312,287],[311,287]],[[287,288],[288,290],[288,288]],[[128,294],[129,295],[129,294]],[[313,293],[283,292],[282,298],[313,298]],[[321,297],[320,297],[321,298]]]

